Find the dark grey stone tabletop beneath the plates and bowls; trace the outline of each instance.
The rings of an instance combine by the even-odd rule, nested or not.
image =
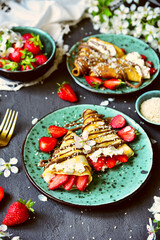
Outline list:
[[[81,38],[97,33],[93,30],[89,19],[81,21],[72,27],[71,33],[65,36],[65,43],[72,46]],[[0,91],[0,121],[7,108],[19,112],[19,117],[10,144],[0,149],[0,157],[9,161],[18,158],[19,173],[9,178],[0,176],[0,185],[5,190],[5,197],[0,203],[0,224],[9,205],[18,197],[36,201],[35,215],[26,223],[9,228],[13,235],[19,235],[23,240],[145,240],[146,225],[152,214],[148,211],[153,204],[153,196],[160,196],[160,134],[159,127],[143,122],[135,112],[135,100],[148,90],[160,89],[159,77],[140,92],[114,96],[115,100],[108,107],[115,108],[129,115],[139,123],[148,134],[155,139],[153,144],[153,168],[146,184],[131,198],[114,206],[100,208],[76,208],[57,203],[48,199],[42,202],[38,199],[38,190],[27,179],[22,168],[21,150],[23,141],[32,127],[34,118],[42,118],[49,112],[59,108],[73,106],[73,103],[61,100],[57,95],[57,82],[69,81],[79,96],[79,104],[97,104],[110,95],[91,93],[78,86],[66,68],[65,58],[58,70],[54,72],[43,85],[23,88],[18,92]],[[54,94],[53,94],[54,92]],[[158,234],[157,234],[158,237]],[[159,235],[160,237],[160,235]],[[159,239],[159,238],[158,238]]]

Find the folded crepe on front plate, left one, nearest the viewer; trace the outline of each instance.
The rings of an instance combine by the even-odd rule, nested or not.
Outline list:
[[[74,132],[68,131],[60,148],[55,150],[51,160],[46,165],[42,177],[47,183],[50,183],[56,174],[88,175],[87,185],[92,181],[91,167],[82,149],[76,149],[74,136],[76,136]],[[71,189],[76,189],[76,186],[73,185]]]

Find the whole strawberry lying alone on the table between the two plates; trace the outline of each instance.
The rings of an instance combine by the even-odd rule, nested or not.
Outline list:
[[[58,88],[58,96],[69,102],[77,102],[77,96],[73,90],[73,88],[66,82],[63,82],[62,84],[59,84]]]

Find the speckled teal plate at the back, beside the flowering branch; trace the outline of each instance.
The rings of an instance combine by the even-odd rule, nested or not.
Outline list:
[[[113,43],[114,45],[125,49],[126,53],[136,51],[139,54],[145,55],[148,61],[153,62],[153,66],[154,68],[157,69],[157,72],[154,75],[152,75],[152,77],[149,80],[145,80],[139,88],[131,88],[131,87],[128,87],[127,85],[123,85],[123,87],[120,87],[114,91],[110,89],[94,89],[91,86],[89,86],[89,84],[85,81],[84,77],[75,77],[72,74],[74,60],[78,54],[78,46],[80,45],[80,41],[79,41],[75,45],[73,45],[69,51],[70,56],[67,57],[67,68],[69,73],[75,80],[75,82],[81,87],[91,92],[97,92],[97,93],[103,93],[103,94],[127,94],[127,93],[136,92],[140,89],[143,89],[144,87],[151,84],[153,80],[158,76],[159,58],[155,53],[155,51],[151,47],[149,47],[149,45],[147,45],[145,42],[127,35],[98,34],[98,35],[93,35],[89,37],[97,37],[103,41]],[[83,41],[87,41],[89,37],[84,38]]]

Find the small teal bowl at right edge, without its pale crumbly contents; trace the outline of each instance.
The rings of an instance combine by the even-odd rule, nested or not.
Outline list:
[[[137,114],[142,119],[144,119],[146,122],[157,125],[157,126],[160,126],[160,123],[151,122],[150,120],[146,119],[140,112],[141,104],[144,101],[146,101],[147,99],[150,99],[152,97],[160,97],[160,91],[159,90],[153,90],[153,91],[143,93],[141,96],[139,96],[139,98],[137,98],[136,103],[135,103],[135,108],[136,108]]]

